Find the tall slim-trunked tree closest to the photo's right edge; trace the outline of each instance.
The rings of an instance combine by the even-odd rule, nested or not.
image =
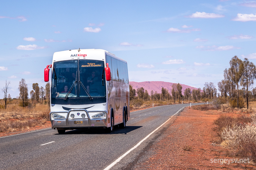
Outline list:
[[[256,79],[256,68],[255,65],[252,62],[250,62],[247,58],[244,58],[243,66],[244,70],[241,78],[241,85],[243,87],[246,86],[246,102],[247,109],[249,109],[248,87],[250,87],[254,83],[253,80]]]

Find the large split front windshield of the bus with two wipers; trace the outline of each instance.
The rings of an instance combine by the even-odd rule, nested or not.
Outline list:
[[[104,61],[67,60],[54,63],[52,98],[105,97]]]

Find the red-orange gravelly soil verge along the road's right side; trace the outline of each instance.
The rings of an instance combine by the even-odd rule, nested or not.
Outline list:
[[[219,146],[220,138],[213,122],[221,113],[185,108],[166,129],[165,137],[152,145],[130,169],[256,169],[252,163],[225,164],[221,160],[214,163],[214,159],[216,162],[217,159],[239,160],[229,157]]]

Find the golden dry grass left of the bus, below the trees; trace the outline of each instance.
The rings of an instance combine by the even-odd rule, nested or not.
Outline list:
[[[3,105],[3,101],[0,101]],[[15,132],[44,125],[49,121],[50,108],[46,104],[29,103],[19,106],[19,100],[8,101],[6,109],[0,108],[0,132]]]

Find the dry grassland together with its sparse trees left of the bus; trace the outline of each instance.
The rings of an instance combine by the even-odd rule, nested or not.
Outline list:
[[[16,98],[7,96],[9,84],[10,82],[6,81],[2,88],[5,97],[0,100],[0,133],[26,130],[37,125],[44,125],[49,121],[49,83],[45,88],[39,88],[38,83],[34,83],[33,90],[30,91],[30,98],[24,79],[19,82],[20,94]]]

